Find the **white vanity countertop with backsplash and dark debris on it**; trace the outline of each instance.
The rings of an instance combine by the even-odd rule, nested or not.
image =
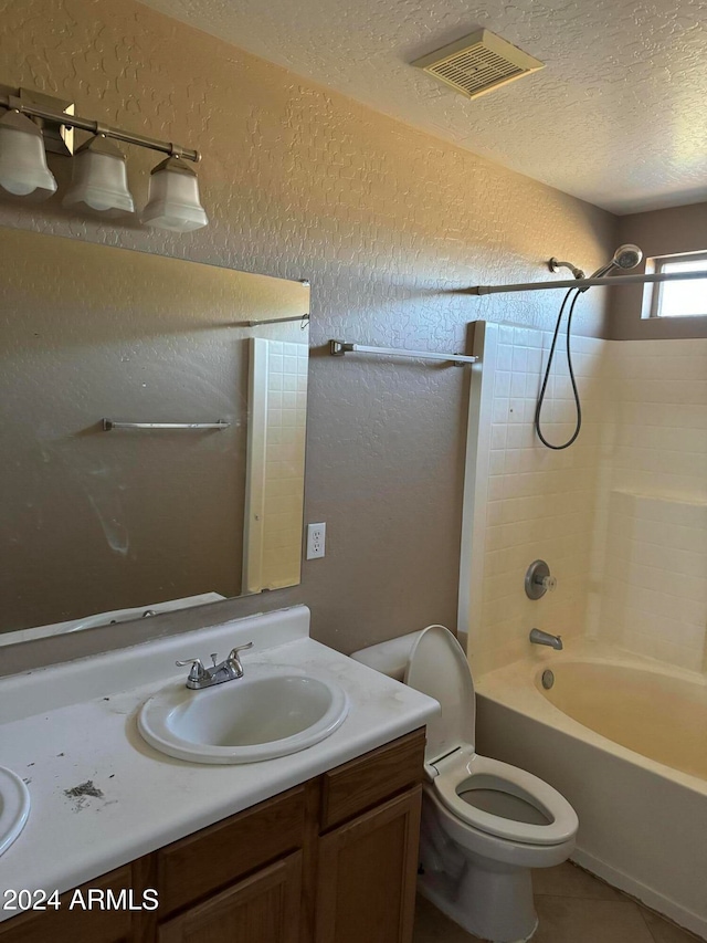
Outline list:
[[[0,765],[29,786],[24,830],[0,857],[6,889],[68,890],[212,825],[422,725],[436,701],[308,638],[304,606],[239,619],[0,680]],[[299,753],[262,763],[172,759],[141,738],[141,704],[184,678],[176,658],[255,641],[249,664],[327,672],[350,701],[346,721]],[[127,683],[126,683],[127,680]],[[238,684],[238,681],[229,682]],[[194,692],[199,696],[200,692]],[[92,780],[101,796],[72,798]]]

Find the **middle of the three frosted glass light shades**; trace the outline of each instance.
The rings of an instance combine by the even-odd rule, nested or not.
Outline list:
[[[125,156],[105,137],[98,135],[76,151],[62,206],[88,207],[110,219],[135,212]]]

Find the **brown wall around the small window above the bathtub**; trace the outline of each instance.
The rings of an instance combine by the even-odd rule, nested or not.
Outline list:
[[[619,217],[619,242],[634,242],[643,255],[707,250],[707,202]],[[636,272],[645,271],[644,265]],[[614,340],[707,337],[707,317],[642,318],[643,285],[611,292],[609,336]]]

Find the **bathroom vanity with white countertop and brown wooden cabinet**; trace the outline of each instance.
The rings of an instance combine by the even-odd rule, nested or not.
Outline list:
[[[32,799],[0,856],[0,893],[56,889],[60,903],[0,911],[0,943],[410,941],[424,725],[439,705],[313,641],[308,624],[298,606],[0,680],[2,762]],[[175,759],[143,740],[145,702],[183,688],[175,660],[250,640],[245,678],[326,673],[348,699],[340,726],[243,764]]]

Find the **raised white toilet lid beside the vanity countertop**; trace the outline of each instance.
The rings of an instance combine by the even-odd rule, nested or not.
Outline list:
[[[462,646],[444,626],[430,626],[418,636],[405,684],[434,698],[442,708],[442,713],[428,722],[425,763],[434,763],[460,746],[474,746],[476,704],[472,672]]]

